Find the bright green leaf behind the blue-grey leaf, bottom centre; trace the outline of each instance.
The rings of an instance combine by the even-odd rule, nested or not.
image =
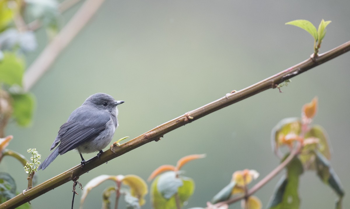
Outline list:
[[[154,209],[177,209],[176,207],[176,201],[175,201],[175,194],[170,197],[170,199],[165,198],[163,196],[164,194],[164,190],[166,190],[166,186],[161,186],[161,189],[163,190],[163,192],[160,192],[158,190],[158,183],[159,180],[161,178],[161,176],[163,175],[167,175],[170,176],[169,178],[172,179],[172,175],[173,174],[168,174],[168,173],[174,173],[174,172],[166,172],[163,173],[162,175],[158,176],[152,183],[151,185],[151,201],[153,204],[153,208]],[[178,187],[177,189],[177,196],[179,198],[180,204],[181,206],[183,206],[183,203],[185,201],[187,201],[189,199],[189,197],[193,194],[194,192],[194,181],[190,178],[187,177],[180,177],[179,178],[182,181],[182,186]],[[169,180],[168,180],[169,181]],[[164,183],[164,182],[163,182]],[[178,184],[178,183],[172,183],[173,187],[174,184]],[[169,190],[173,190],[172,188],[168,187]],[[167,195],[170,194],[170,192],[166,192]]]

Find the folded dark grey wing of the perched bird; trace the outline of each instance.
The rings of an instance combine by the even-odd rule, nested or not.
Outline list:
[[[59,154],[75,149],[86,140],[96,138],[106,128],[106,123],[111,120],[110,114],[105,111],[87,111],[84,108],[78,108],[74,112],[72,115],[75,117],[69,117],[68,122],[61,126],[55,139],[55,142],[61,140],[58,145]]]

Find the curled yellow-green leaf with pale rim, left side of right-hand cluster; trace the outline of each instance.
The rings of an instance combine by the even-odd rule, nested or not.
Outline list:
[[[273,127],[271,131],[271,145],[275,153],[279,152],[279,147],[283,145],[280,142],[280,138],[286,136],[287,134],[300,135],[301,132],[301,122],[300,118],[289,117],[284,118]]]

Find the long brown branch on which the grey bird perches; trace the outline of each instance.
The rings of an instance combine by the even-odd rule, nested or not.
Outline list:
[[[93,0],[96,1],[96,0]],[[266,89],[269,88],[275,88],[278,84],[286,80],[286,75],[288,78],[292,78],[295,75],[298,75],[302,72],[305,72],[319,64],[322,64],[324,62],[327,62],[328,60],[337,57],[339,55],[342,55],[343,53],[350,50],[350,41],[346,42],[337,48],[334,48],[328,52],[323,53],[322,55],[318,56],[317,58],[309,58],[305,60],[304,62],[301,62],[293,67],[290,67],[287,70],[284,70],[280,73],[277,73],[265,80],[262,80],[252,86],[249,86],[247,88],[244,88],[237,92],[229,93],[222,98],[213,101],[209,104],[204,105],[203,107],[197,108],[195,110],[189,111],[188,113],[181,115],[171,121],[168,121],[166,123],[163,123],[154,129],[146,132],[145,134],[142,134],[134,139],[131,139],[130,141],[121,144],[120,146],[117,145],[117,143],[114,143],[111,146],[111,149],[106,150],[100,155],[100,158],[94,157],[91,160],[88,160],[87,163],[82,167],[82,165],[77,165],[68,171],[65,171],[54,178],[51,178],[29,190],[24,192],[24,194],[19,194],[15,196],[14,198],[8,200],[5,203],[2,203],[0,205],[0,208],[7,209],[7,208],[16,208],[20,206],[23,203],[26,203],[30,200],[35,199],[36,197],[50,191],[51,189],[54,189],[58,186],[61,186],[62,184],[71,181],[76,176],[80,176],[93,168],[96,168],[99,165],[102,165],[106,163],[107,161],[112,160],[113,158],[116,158],[126,152],[129,152],[139,146],[142,146],[144,144],[147,144],[149,142],[152,142],[154,140],[158,140],[160,137],[165,135],[166,133],[177,129],[187,123],[190,123],[192,121],[195,121],[205,115],[208,115],[216,110],[222,109],[226,106],[229,106],[230,104],[236,103],[238,101],[241,101],[243,99],[246,99],[250,96],[253,96],[255,94],[258,94]],[[252,188],[253,189],[253,188]]]

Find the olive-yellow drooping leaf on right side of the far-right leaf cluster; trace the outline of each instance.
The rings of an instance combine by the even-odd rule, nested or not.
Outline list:
[[[300,154],[300,160],[304,166],[309,170],[315,170],[315,152],[319,151],[327,159],[330,159],[330,149],[327,140],[327,133],[320,125],[314,125],[311,129],[305,133],[305,140],[308,138],[317,138],[317,144],[306,144]]]

